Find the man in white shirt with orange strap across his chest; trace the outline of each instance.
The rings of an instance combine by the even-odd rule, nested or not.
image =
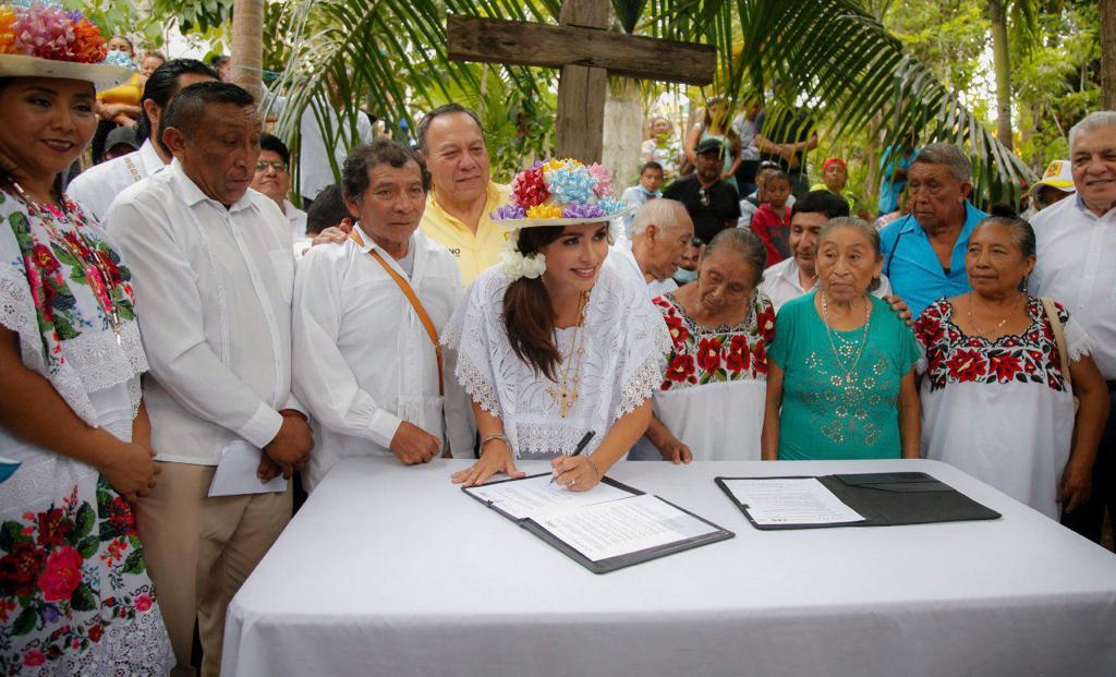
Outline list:
[[[307,492],[344,458],[424,464],[444,442],[473,457],[469,400],[453,361],[443,373],[435,349],[462,286],[453,255],[417,232],[430,190],[425,163],[377,140],[349,153],[341,183],[358,223],[346,242],[307,252],[295,282],[295,393],[318,439]]]

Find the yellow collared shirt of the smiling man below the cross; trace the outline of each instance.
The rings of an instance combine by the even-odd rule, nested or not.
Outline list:
[[[442,209],[434,191],[426,196],[426,211],[419,228],[426,237],[449,249],[458,259],[461,278],[466,287],[473,278],[496,264],[500,248],[507,240],[504,233],[508,230],[493,222],[489,213],[507,203],[509,194],[511,194],[510,185],[489,181],[488,198],[481,220],[477,225],[477,235],[473,235],[456,217],[450,216]]]

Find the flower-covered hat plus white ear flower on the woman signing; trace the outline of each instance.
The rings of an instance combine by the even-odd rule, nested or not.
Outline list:
[[[546,270],[546,258],[538,252],[519,251],[519,230],[538,226],[573,226],[612,221],[631,212],[627,201],[616,196],[608,170],[577,160],[536,161],[516,174],[511,182],[511,202],[489,217],[511,229],[500,254],[500,264],[512,279],[535,278]]]

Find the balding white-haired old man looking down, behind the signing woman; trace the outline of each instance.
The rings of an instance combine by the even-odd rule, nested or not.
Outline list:
[[[632,232],[631,249],[609,247],[605,266],[616,266],[620,273],[647,285],[651,298],[676,289],[672,276],[694,236],[686,208],[676,200],[652,200],[636,212]]]

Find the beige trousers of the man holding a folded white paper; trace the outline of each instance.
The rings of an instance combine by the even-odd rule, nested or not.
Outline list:
[[[136,526],[174,647],[172,675],[193,675],[196,618],[202,677],[217,677],[229,602],[290,519],[291,492],[210,498],[214,466],[160,466],[154,490],[136,505]]]

